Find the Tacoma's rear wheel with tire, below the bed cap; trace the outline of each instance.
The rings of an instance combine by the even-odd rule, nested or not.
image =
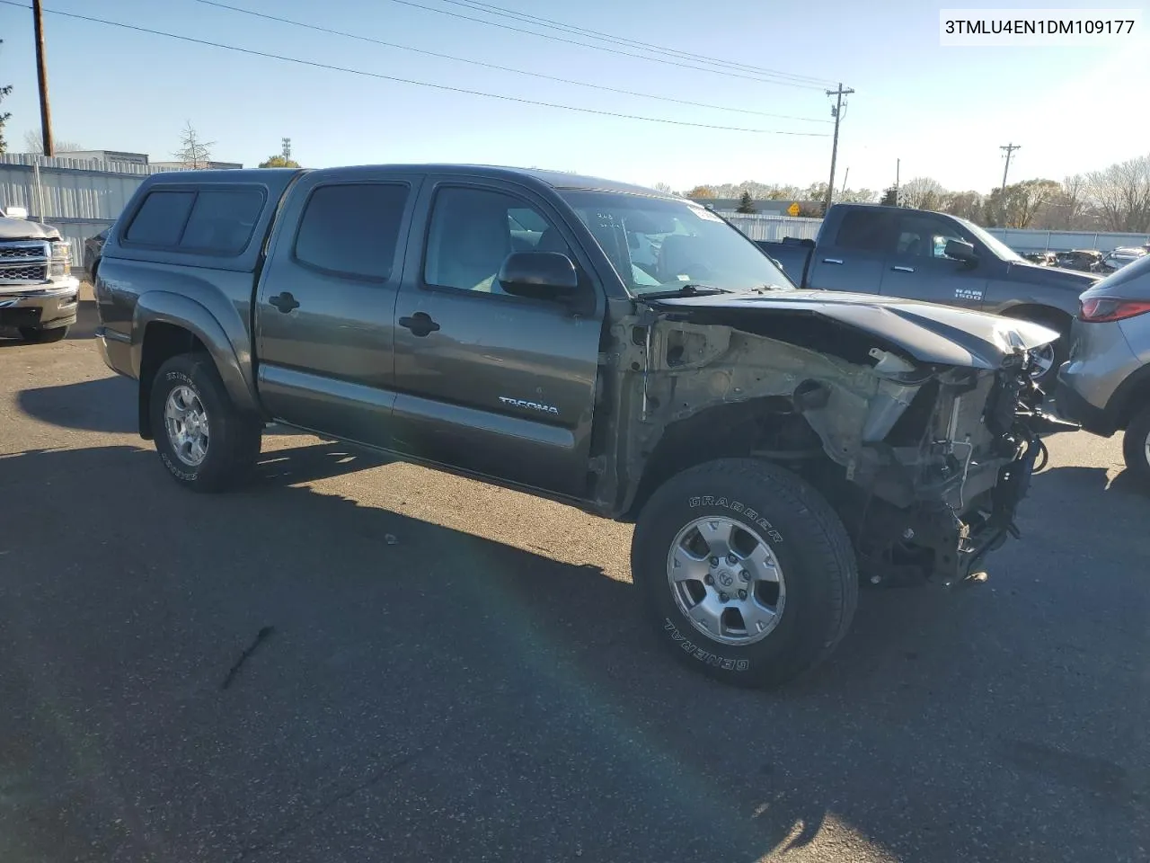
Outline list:
[[[252,473],[263,423],[236,410],[212,358],[172,357],[156,373],[152,436],[168,473],[193,491],[223,491]]]

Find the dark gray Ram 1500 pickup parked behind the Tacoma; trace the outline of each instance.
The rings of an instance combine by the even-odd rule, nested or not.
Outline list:
[[[1035,368],[1046,389],[1070,350],[1079,295],[1101,278],[1032,264],[965,219],[875,204],[835,204],[813,243],[758,245],[802,288],[944,303],[1050,327],[1059,338]]]

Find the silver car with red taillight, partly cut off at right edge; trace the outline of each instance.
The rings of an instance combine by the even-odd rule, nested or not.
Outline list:
[[[1087,432],[1126,432],[1127,467],[1150,484],[1150,255],[1079,298],[1070,359],[1058,369],[1058,412]]]

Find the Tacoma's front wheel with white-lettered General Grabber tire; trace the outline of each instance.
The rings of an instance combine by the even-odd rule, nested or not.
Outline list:
[[[754,459],[710,461],[659,488],[635,527],[631,574],[675,656],[746,687],[818,665],[858,601],[838,515],[802,479]]]

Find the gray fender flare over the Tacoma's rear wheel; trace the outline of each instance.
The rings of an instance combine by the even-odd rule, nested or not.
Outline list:
[[[236,353],[235,343],[212,312],[194,299],[169,291],[146,291],[132,314],[131,364],[139,380],[144,360],[144,336],[150,323],[170,323],[195,336],[215,362],[232,403],[240,411],[259,412],[259,397],[252,377],[251,356],[246,364]],[[146,385],[146,382],[143,382]]]

